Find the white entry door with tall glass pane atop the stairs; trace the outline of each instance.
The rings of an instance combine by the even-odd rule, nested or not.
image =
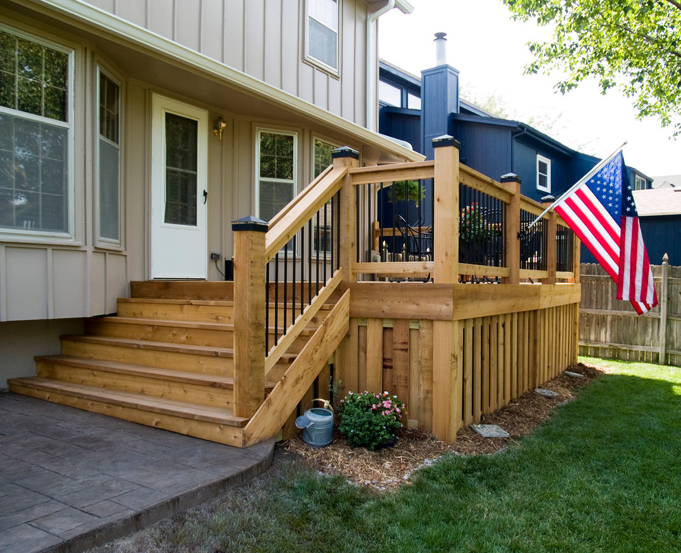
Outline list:
[[[208,112],[153,96],[151,277],[208,275]]]

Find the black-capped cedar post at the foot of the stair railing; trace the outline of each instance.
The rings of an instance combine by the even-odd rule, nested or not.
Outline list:
[[[265,234],[257,217],[234,232],[234,414],[250,418],[265,400]]]

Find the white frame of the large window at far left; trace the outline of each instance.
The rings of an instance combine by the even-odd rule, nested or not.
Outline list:
[[[49,230],[30,230],[28,228],[6,228],[0,227],[0,238],[6,238],[12,241],[54,241],[54,242],[72,242],[75,243],[75,213],[76,213],[76,177],[75,172],[75,129],[76,124],[74,121],[75,112],[74,109],[74,95],[75,95],[75,74],[76,74],[76,49],[75,47],[69,47],[61,43],[57,43],[50,39],[46,39],[43,36],[33,34],[32,32],[26,32],[19,30],[17,28],[10,27],[9,25],[3,25],[0,23],[0,30],[14,36],[18,36],[21,39],[31,41],[34,43],[41,44],[45,47],[52,48],[52,50],[57,50],[58,52],[63,52],[68,56],[68,92],[67,92],[67,116],[66,121],[57,121],[54,119],[46,118],[43,116],[36,116],[32,113],[26,113],[25,111],[19,111],[17,109],[12,109],[8,107],[0,106],[0,113],[6,113],[12,117],[23,118],[24,120],[41,122],[45,124],[54,125],[54,127],[59,127],[61,129],[67,130],[67,188],[66,193],[68,195],[66,204],[68,214],[67,214],[67,230],[64,232],[59,231],[49,231]]]

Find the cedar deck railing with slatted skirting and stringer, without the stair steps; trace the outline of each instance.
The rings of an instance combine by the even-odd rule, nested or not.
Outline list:
[[[350,149],[334,151],[334,165],[270,221],[266,234],[257,226],[235,232],[235,414],[251,418],[246,443],[277,433],[331,356],[334,379],[345,392],[398,393],[410,422],[448,442],[462,424],[479,421],[576,361],[579,240],[552,211],[528,240],[529,217],[543,206],[521,197],[519,178],[496,182],[461,165],[451,138],[433,144],[431,162],[375,167],[358,167]],[[432,180],[432,256],[372,259],[372,199],[386,183],[404,180]],[[484,263],[460,263],[460,193],[477,195],[486,213],[504,213],[478,233],[503,243],[503,252],[476,258]],[[333,262],[325,261],[332,265],[328,277],[266,351],[265,267],[336,194],[338,249]],[[304,248],[292,248],[301,259],[285,262],[299,263],[302,275]],[[471,277],[499,283],[471,284]],[[296,298],[296,285],[292,292],[284,285],[283,297]],[[327,322],[264,399],[268,367],[332,296],[338,301]]]

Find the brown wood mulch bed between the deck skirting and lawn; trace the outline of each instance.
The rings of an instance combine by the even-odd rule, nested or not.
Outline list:
[[[548,418],[552,409],[574,398],[574,389],[587,386],[594,378],[605,372],[600,367],[579,363],[569,371],[583,374],[574,378],[561,373],[542,388],[558,393],[557,398],[545,398],[533,389],[523,393],[517,400],[495,413],[482,415],[482,424],[497,424],[510,437],[482,437],[470,426],[460,429],[452,445],[437,440],[421,429],[402,429],[398,442],[391,448],[369,451],[351,448],[345,438],[334,431],[330,446],[315,449],[303,442],[301,436],[287,440],[286,451],[296,453],[308,466],[327,475],[343,475],[353,484],[369,486],[378,491],[409,484],[414,470],[428,466],[444,453],[456,455],[490,455],[505,448],[509,442],[529,434]]]

